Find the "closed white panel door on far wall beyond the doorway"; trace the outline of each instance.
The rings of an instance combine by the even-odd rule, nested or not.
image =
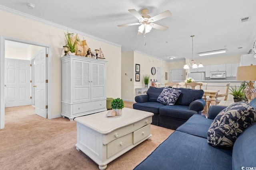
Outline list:
[[[5,107],[30,105],[30,61],[5,59]]]

